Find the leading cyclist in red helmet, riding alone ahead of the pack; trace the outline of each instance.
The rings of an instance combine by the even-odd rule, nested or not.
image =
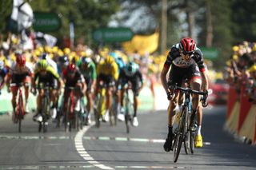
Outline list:
[[[169,82],[167,83],[166,75],[169,72],[169,69]],[[178,104],[179,94],[179,92],[175,92],[173,95],[170,92],[168,85],[174,85],[177,83],[178,86],[181,86],[182,81],[187,78],[190,81],[192,89],[199,91],[202,88],[203,91],[207,91],[209,83],[205,70],[202,52],[196,47],[194,39],[182,38],[181,42],[173,45],[170,49],[161,72],[162,86],[166,91],[168,100],[170,101],[170,105],[168,107],[168,135],[166,142],[163,145],[166,152],[170,151],[172,145],[174,136],[174,109]],[[195,115],[198,105],[199,96],[194,94],[192,96],[192,115]],[[198,145],[202,145],[202,136],[196,135],[195,142],[199,143]]]

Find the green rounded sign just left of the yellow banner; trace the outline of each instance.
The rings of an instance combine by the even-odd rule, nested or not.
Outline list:
[[[134,33],[130,28],[100,28],[94,30],[93,38],[96,42],[126,42],[133,38]]]

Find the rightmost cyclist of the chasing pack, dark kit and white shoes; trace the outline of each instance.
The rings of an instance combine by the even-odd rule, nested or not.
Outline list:
[[[126,84],[131,83],[131,89],[134,93],[134,115],[133,115],[133,125],[138,126],[137,109],[138,109],[138,93],[143,87],[142,73],[139,70],[138,64],[130,61],[121,70],[118,77],[118,85],[121,84],[121,107],[123,108],[123,97],[126,90]],[[123,109],[122,109],[123,110]]]

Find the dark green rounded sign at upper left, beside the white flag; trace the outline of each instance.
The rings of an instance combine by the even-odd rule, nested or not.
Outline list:
[[[33,28],[35,31],[51,32],[59,30],[62,22],[55,13],[34,12]]]

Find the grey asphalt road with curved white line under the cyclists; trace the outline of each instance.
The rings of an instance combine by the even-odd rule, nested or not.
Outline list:
[[[0,169],[256,169],[256,148],[224,130],[225,107],[204,110],[204,147],[194,155],[182,148],[177,163],[173,152],[162,148],[167,132],[163,111],[139,114],[138,128],[128,135],[123,122],[79,132],[50,123],[49,132],[39,133],[31,117],[22,122],[22,133],[10,116],[0,117]]]

